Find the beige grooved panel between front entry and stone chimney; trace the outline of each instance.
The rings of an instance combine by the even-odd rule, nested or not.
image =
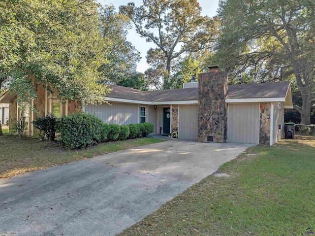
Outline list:
[[[198,135],[198,105],[178,106],[178,137],[196,140]]]

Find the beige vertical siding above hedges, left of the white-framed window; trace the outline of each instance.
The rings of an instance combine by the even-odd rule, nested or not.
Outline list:
[[[139,105],[130,103],[119,103],[110,102],[111,105],[107,103],[97,104],[97,105],[87,105],[86,112],[94,114],[104,123],[117,124],[117,125],[127,125],[130,123],[139,123]]]

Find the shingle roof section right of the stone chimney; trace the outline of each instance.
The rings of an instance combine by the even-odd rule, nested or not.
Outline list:
[[[285,98],[290,82],[229,85],[226,99]]]

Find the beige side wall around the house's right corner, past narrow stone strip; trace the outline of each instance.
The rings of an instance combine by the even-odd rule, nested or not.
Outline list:
[[[273,104],[273,142],[278,142],[283,135],[284,130],[284,103],[274,102]],[[281,125],[281,130],[279,130],[279,125]]]

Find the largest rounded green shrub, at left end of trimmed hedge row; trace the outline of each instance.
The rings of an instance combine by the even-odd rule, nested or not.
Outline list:
[[[59,140],[66,148],[85,148],[102,141],[103,122],[87,113],[62,116],[57,120]]]

